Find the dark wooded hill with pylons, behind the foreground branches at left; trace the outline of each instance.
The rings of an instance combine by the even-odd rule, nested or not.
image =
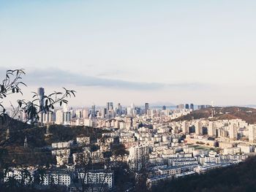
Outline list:
[[[9,139],[6,139],[7,128],[10,130]],[[50,164],[53,158],[50,150],[45,147],[51,143],[75,140],[80,135],[95,141],[106,131],[86,126],[52,125],[50,137],[45,137],[45,132],[45,126],[33,127],[12,118],[7,118],[4,123],[0,122],[0,168],[3,164]],[[25,137],[28,141],[26,148],[23,147]]]

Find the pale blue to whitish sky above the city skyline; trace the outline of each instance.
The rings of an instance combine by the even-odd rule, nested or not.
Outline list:
[[[0,77],[74,106],[256,104],[256,1],[1,1]]]

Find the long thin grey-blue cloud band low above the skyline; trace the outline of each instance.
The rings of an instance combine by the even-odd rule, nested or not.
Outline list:
[[[4,74],[6,69],[0,69]],[[204,85],[197,83],[167,84],[160,82],[132,82],[125,80],[111,80],[101,77],[91,77],[84,74],[75,74],[60,69],[37,69],[27,72],[24,81],[29,85],[80,85],[99,86],[105,88],[118,88],[128,90],[157,90],[162,88],[203,88]]]

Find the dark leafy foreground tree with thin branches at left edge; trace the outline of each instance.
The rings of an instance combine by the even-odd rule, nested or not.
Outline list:
[[[39,125],[39,113],[47,113],[53,112],[54,108],[57,104],[61,106],[63,103],[68,103],[68,98],[75,96],[75,91],[68,90],[63,88],[63,92],[53,91],[48,96],[43,96],[42,99],[39,98],[39,95],[35,92],[31,101],[27,101],[22,98],[22,86],[26,86],[26,84],[22,81],[22,77],[25,74],[24,69],[14,69],[7,70],[4,80],[0,83],[0,134],[4,134],[6,129],[10,129],[10,134],[17,134],[18,132],[26,131],[26,128],[33,128],[34,126]],[[4,106],[3,100],[10,96],[11,94],[20,93],[21,98],[18,99],[17,104],[10,104],[12,108],[12,116],[7,114],[7,107]],[[18,114],[20,112],[24,112],[26,114],[26,120],[23,123],[18,123],[19,120]],[[14,126],[10,126],[12,123],[17,123],[15,128]],[[9,132],[8,131],[8,132]],[[8,155],[8,150],[4,148],[4,145],[10,141],[10,137],[6,137],[3,142],[0,142],[0,172],[4,174],[0,174],[0,177],[4,177],[7,174],[7,170],[10,170],[8,164],[4,163],[4,158]],[[31,178],[30,172],[24,169],[21,171],[21,180],[17,183],[15,177],[8,178],[7,183],[4,183],[5,186],[10,186],[11,188],[23,187],[26,179]],[[0,178],[1,179],[1,178]],[[39,183],[42,183],[44,179],[44,170],[39,168]],[[30,180],[31,181],[31,180]],[[0,183],[0,189],[2,184]]]

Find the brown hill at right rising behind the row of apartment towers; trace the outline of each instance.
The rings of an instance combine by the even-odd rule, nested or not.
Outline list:
[[[189,115],[184,115],[179,120],[193,120],[200,118],[211,118],[211,120],[242,119],[247,123],[256,123],[256,109],[249,107],[209,107],[202,110],[195,110]]]

